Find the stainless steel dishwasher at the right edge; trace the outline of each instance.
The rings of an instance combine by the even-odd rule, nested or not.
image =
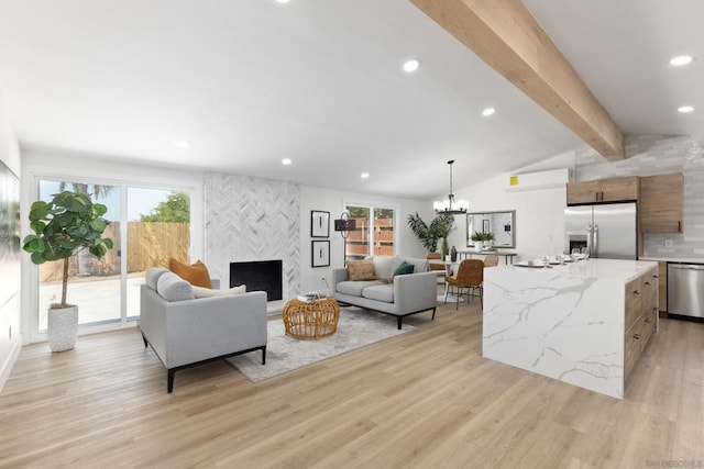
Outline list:
[[[704,265],[668,264],[668,314],[704,317]]]

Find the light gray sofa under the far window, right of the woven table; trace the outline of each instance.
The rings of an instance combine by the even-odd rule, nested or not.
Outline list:
[[[403,261],[414,266],[414,273],[398,275],[391,279]],[[405,316],[432,310],[436,317],[438,303],[437,273],[429,270],[427,259],[399,256],[374,256],[374,272],[377,280],[349,280],[349,271],[332,270],[334,299],[355,306],[366,308],[396,316],[398,328]]]

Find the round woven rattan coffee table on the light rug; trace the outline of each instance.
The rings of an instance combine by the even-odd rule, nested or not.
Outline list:
[[[338,330],[340,305],[333,298],[286,302],[282,311],[286,334],[296,338],[320,338]]]

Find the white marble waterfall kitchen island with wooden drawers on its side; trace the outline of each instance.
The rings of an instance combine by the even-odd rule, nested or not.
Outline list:
[[[623,399],[658,324],[658,264],[525,261],[484,270],[483,355]]]

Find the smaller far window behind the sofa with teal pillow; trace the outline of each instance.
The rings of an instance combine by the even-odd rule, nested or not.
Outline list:
[[[396,211],[380,206],[349,204],[345,210],[356,228],[350,233],[346,243],[348,260],[363,259],[366,256],[393,256]],[[372,216],[373,215],[373,216]]]

